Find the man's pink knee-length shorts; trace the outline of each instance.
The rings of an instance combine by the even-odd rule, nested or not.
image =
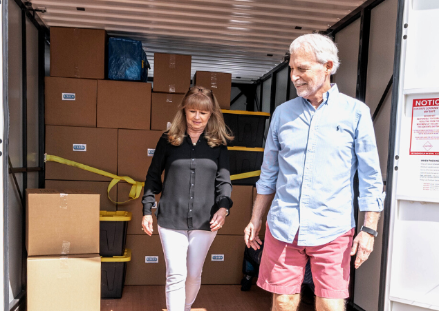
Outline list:
[[[257,285],[276,294],[298,294],[309,258],[316,296],[348,298],[354,232],[352,228],[324,245],[298,246],[297,234],[292,243],[281,242],[274,239],[268,228],[265,231]]]

